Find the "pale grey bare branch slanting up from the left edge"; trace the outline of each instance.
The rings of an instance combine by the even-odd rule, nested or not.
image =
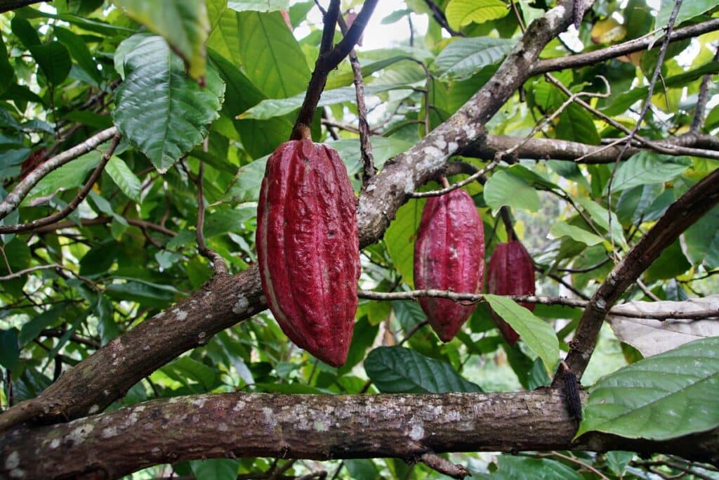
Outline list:
[[[59,155],[55,155],[42,163],[40,166],[37,166],[35,170],[28,173],[27,176],[23,178],[9,194],[7,194],[3,201],[0,201],[0,219],[6,217],[10,212],[16,209],[22,199],[24,199],[27,194],[29,194],[29,191],[32,190],[32,187],[35,186],[42,177],[46,176],[47,173],[55,170],[55,168],[65,165],[65,163],[68,163],[70,160],[75,160],[75,158],[78,158],[80,155],[94,150],[101,143],[104,143],[114,137],[116,133],[117,129],[115,127],[110,127],[102,132],[96,133],[84,142],[75,145],[73,148],[65,150]]]

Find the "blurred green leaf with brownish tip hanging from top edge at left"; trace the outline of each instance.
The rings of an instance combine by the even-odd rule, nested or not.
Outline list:
[[[210,22],[204,1],[114,0],[128,17],[168,41],[188,67],[192,78],[205,76],[205,42]]]

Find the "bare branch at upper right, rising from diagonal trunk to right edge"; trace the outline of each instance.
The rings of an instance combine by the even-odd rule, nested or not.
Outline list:
[[[706,22],[697,23],[690,25],[689,27],[679,28],[674,30],[669,37],[670,42],[677,42],[679,40],[685,40],[687,38],[697,37],[707,32],[713,32],[719,30],[719,19],[711,19]],[[620,43],[618,45],[612,45],[601,50],[595,50],[588,53],[578,53],[569,57],[558,57],[548,58],[546,60],[539,60],[531,67],[531,75],[538,75],[539,73],[547,73],[558,70],[564,70],[567,68],[579,68],[587,65],[594,65],[595,63],[603,62],[604,60],[610,60],[611,58],[618,58],[623,55],[630,53],[639,52],[646,50],[647,48],[656,48],[661,46],[661,41],[664,37],[656,40],[651,36],[644,36],[635,40],[629,40],[628,42]]]

